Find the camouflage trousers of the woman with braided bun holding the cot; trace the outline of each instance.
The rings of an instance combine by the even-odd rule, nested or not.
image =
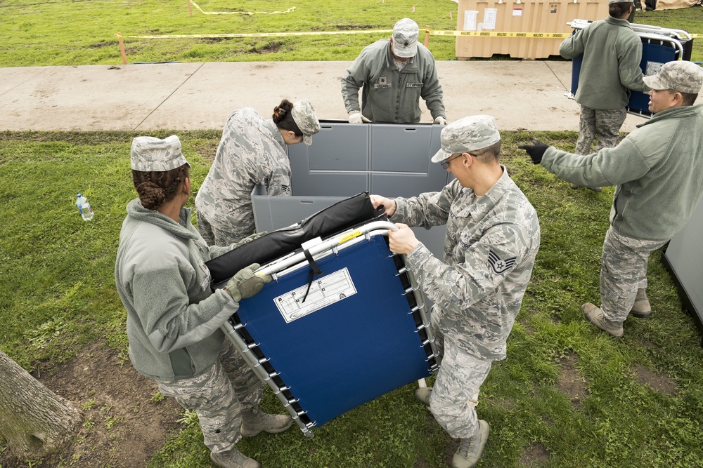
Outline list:
[[[234,447],[241,437],[242,412],[258,408],[264,396],[264,384],[229,341],[205,373],[157,383],[162,395],[198,414],[205,445],[215,453]]]

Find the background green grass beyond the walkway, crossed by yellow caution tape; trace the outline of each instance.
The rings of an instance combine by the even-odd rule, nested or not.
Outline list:
[[[129,36],[366,31],[392,29],[394,22],[408,17],[420,25],[422,41],[426,26],[434,30],[456,29],[458,12],[458,4],[451,0],[199,0],[196,3],[206,12],[273,12],[292,7],[295,10],[270,15],[205,15],[193,7],[191,16],[186,0],[0,1],[3,39],[0,66],[120,65],[117,32]],[[635,21],[703,33],[703,8],[638,12]],[[364,46],[388,35],[124,39],[124,46],[130,63],[354,60]],[[455,60],[454,44],[453,36],[430,36],[430,51],[437,60]],[[695,39],[692,60],[703,60],[703,38]]]

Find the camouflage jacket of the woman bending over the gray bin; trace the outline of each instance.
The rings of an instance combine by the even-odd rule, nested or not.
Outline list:
[[[276,124],[244,107],[227,119],[195,207],[212,225],[238,229],[244,238],[254,232],[257,184],[266,185],[271,196],[290,195],[290,163]]]

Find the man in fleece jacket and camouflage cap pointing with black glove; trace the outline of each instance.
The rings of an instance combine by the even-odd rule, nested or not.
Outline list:
[[[667,62],[645,76],[654,115],[617,147],[577,156],[534,140],[521,145],[535,164],[580,185],[615,185],[600,267],[600,302],[586,319],[614,337],[628,315],[652,315],[647,259],[685,227],[703,194],[703,105],[694,105],[703,69]]]

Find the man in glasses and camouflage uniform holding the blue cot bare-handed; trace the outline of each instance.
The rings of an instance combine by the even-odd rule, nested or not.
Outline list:
[[[434,302],[430,326],[442,356],[432,389],[415,393],[449,435],[461,439],[453,468],[473,467],[489,424],[477,418],[479,388],[520,311],[539,248],[537,213],[499,162],[501,135],[493,117],[470,116],[441,131],[432,157],[456,180],[410,199],[372,195],[399,229],[390,249]],[[408,227],[446,224],[444,259],[435,258]]]

